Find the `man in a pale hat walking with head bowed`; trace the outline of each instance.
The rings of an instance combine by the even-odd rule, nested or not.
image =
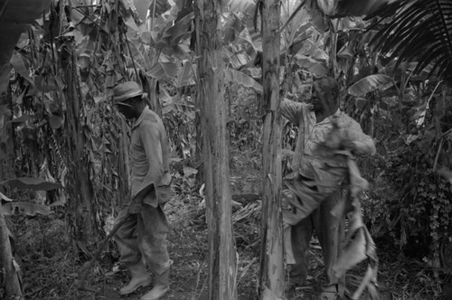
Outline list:
[[[135,119],[130,137],[131,200],[123,203],[116,222],[127,219],[115,240],[120,261],[130,270],[131,280],[119,290],[120,295],[149,286],[155,272],[155,286],[141,300],[159,299],[169,290],[171,260],[166,248],[169,229],[164,205],[170,198],[171,175],[162,119],[146,104],[137,82],[127,81],[113,89],[114,104],[127,119]]]

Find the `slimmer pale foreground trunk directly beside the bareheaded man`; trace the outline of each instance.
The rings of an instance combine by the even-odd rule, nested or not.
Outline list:
[[[262,141],[262,227],[260,299],[284,297],[281,213],[281,111],[279,107],[280,1],[262,2],[264,127]]]

